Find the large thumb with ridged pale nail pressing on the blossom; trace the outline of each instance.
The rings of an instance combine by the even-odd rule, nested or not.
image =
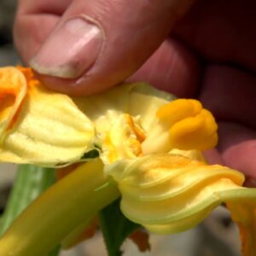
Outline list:
[[[104,90],[143,64],[192,1],[74,0],[30,64],[54,90]]]

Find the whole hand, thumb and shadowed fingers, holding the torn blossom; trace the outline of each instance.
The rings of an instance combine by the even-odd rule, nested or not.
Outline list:
[[[200,99],[218,120],[219,142],[208,153],[211,161],[246,173],[252,177],[247,184],[255,186],[256,3],[198,0],[190,4],[187,0],[20,0],[15,44],[24,63],[32,64],[39,79],[54,90],[86,95],[129,79]],[[57,50],[52,49],[49,59],[40,56],[40,51],[49,52],[45,44],[52,43],[53,31],[81,15],[100,27],[102,43],[96,38],[96,49],[80,49],[65,63],[86,68],[65,79],[60,78],[60,70],[42,72],[44,61],[50,69],[56,54],[65,57],[60,38],[51,44]]]

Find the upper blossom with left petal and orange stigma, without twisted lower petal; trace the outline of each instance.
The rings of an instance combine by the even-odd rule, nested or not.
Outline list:
[[[200,102],[172,102],[148,84],[71,98],[45,89],[31,69],[5,67],[0,74],[1,161],[63,166],[97,149],[111,163],[217,143],[217,125]]]

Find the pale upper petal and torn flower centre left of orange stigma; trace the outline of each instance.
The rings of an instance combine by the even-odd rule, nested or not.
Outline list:
[[[143,153],[141,143],[157,122],[156,112],[173,98],[148,84],[135,83],[73,100],[96,125],[102,160],[113,163]]]

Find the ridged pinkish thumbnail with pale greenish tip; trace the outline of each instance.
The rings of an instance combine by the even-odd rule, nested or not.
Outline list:
[[[102,41],[102,30],[96,24],[83,18],[67,20],[49,35],[30,66],[42,74],[78,78],[96,61]]]

